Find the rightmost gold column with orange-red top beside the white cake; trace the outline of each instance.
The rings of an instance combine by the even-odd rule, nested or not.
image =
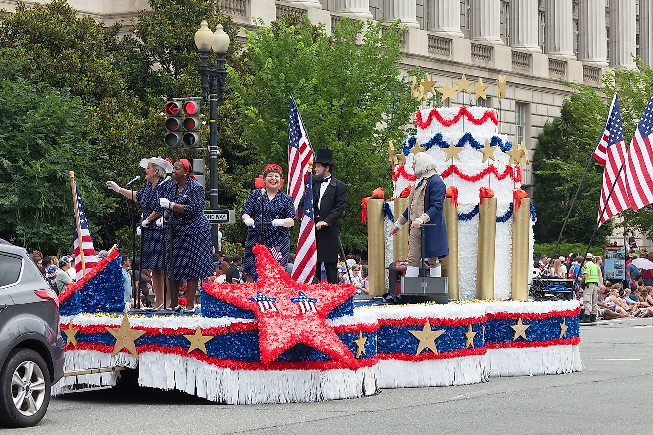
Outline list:
[[[530,199],[524,198],[517,209],[513,206],[513,271],[510,278],[510,299],[528,301],[528,245],[530,244]]]

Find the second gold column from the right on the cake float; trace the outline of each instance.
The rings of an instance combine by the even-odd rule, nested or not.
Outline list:
[[[523,205],[522,205],[523,207]],[[483,198],[479,206],[479,248],[476,262],[476,297],[494,298],[494,244],[496,198]]]

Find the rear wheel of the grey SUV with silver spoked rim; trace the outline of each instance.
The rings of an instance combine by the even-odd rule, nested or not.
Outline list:
[[[16,349],[0,375],[0,422],[5,427],[39,423],[50,404],[50,370],[39,353]]]

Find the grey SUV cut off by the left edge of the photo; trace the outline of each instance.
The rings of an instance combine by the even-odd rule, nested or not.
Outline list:
[[[63,376],[59,297],[24,248],[0,239],[0,424],[39,423]]]

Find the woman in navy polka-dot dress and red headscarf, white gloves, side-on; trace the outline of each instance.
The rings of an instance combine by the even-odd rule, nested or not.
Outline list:
[[[161,207],[168,209],[169,221],[181,222],[171,226],[171,246],[166,250],[166,268],[170,280],[167,305],[180,310],[177,303],[179,284],[181,280],[186,280],[188,298],[184,312],[195,311],[197,283],[214,273],[211,225],[204,216],[206,194],[192,172],[187,158],[174,162],[173,181],[167,188],[166,197],[159,200]],[[172,271],[170,256],[173,260]]]

